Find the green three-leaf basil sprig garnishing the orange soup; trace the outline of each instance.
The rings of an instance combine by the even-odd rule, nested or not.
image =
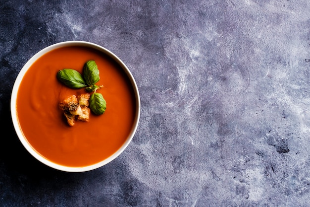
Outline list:
[[[90,96],[89,105],[92,112],[96,115],[101,115],[105,112],[106,101],[101,93],[97,93],[97,83],[100,80],[99,69],[95,61],[87,61],[83,66],[83,75],[74,69],[62,69],[57,72],[57,78],[66,86],[79,89],[85,88],[88,92],[94,93]]]

